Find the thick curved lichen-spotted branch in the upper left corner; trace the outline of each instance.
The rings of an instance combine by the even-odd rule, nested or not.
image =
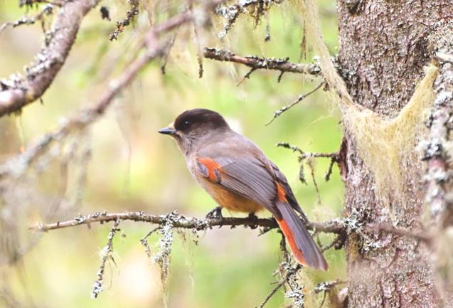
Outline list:
[[[65,63],[77,36],[82,18],[99,0],[66,1],[53,21],[46,46],[36,63],[26,69],[26,78],[0,83],[0,117],[17,112],[41,97]]]

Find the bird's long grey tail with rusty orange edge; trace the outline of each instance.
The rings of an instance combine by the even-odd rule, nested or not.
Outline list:
[[[297,216],[296,211],[286,202],[277,201],[276,205],[282,214],[282,218],[277,219],[277,223],[297,262],[302,265],[327,270],[329,265],[327,265],[324,255],[314,243],[313,238],[311,238],[302,220]]]

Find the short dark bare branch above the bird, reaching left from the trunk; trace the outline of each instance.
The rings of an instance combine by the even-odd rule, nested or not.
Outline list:
[[[315,64],[291,63],[289,58],[259,58],[257,55],[242,57],[230,51],[217,48],[205,48],[203,53],[207,59],[239,63],[255,70],[279,70],[280,72],[299,73],[320,76],[321,69]]]

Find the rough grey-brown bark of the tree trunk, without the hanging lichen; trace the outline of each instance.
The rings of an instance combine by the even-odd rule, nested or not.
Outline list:
[[[427,36],[439,21],[452,19],[453,1],[339,0],[337,9],[339,64],[348,72],[348,91],[381,116],[397,115],[431,60]],[[359,158],[352,136],[345,135],[346,215],[362,213],[368,223],[389,222],[388,211],[375,197],[373,175]],[[425,169],[421,161],[410,168],[419,176],[406,176],[409,200],[390,202],[398,226],[420,230],[425,191],[420,179]],[[366,247],[356,237],[346,242],[348,307],[439,307],[425,245],[401,235],[369,236],[374,244]]]

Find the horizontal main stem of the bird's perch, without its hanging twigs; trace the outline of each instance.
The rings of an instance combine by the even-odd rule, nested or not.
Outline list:
[[[166,215],[151,215],[139,212],[124,212],[124,213],[107,213],[97,212],[87,216],[78,216],[69,221],[61,221],[57,223],[38,224],[31,227],[31,230],[49,231],[55,229],[74,227],[75,225],[90,225],[92,223],[107,223],[109,221],[137,221],[144,223],[153,223],[157,225],[165,225],[166,223],[173,224],[174,228],[186,228],[195,230],[206,230],[215,226],[228,225],[235,227],[238,225],[245,225],[250,227],[264,227],[264,228],[278,228],[277,223],[273,218],[252,218],[252,217],[224,217],[224,218],[191,218],[183,216],[177,211]],[[307,228],[309,230],[317,230],[324,233],[343,233],[344,225],[341,220],[326,221],[324,223],[308,222]]]

